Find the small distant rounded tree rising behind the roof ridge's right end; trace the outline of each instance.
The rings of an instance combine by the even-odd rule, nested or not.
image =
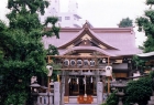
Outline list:
[[[128,28],[128,27],[133,27],[132,23],[133,21],[130,18],[125,18],[125,19],[122,19],[118,25],[119,28]]]

